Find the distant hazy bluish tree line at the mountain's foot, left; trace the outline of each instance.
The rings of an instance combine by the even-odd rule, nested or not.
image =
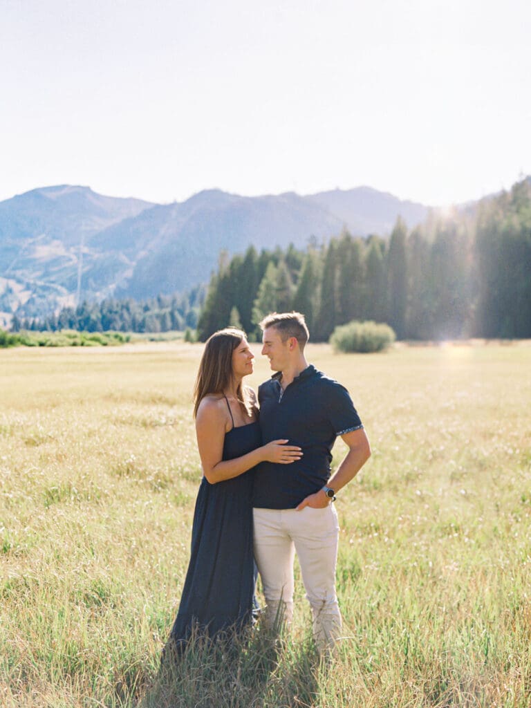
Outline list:
[[[18,319],[15,315],[11,331],[59,331],[73,329],[85,332],[167,332],[195,329],[205,287],[198,285],[185,295],[159,295],[144,301],[105,299],[83,302],[78,307],[64,307],[59,314],[45,319]]]

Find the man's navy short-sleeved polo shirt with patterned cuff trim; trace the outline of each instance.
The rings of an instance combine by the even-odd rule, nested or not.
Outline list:
[[[253,506],[295,508],[319,491],[330,476],[331,450],[338,435],[362,428],[348,391],[309,365],[282,394],[281,374],[258,389],[262,442],[289,440],[302,447],[290,464],[261,462],[254,477]]]

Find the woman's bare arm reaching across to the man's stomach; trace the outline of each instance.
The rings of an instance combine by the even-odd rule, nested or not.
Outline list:
[[[219,400],[202,399],[195,418],[202,472],[210,484],[232,479],[244,474],[258,462],[290,464],[302,457],[302,450],[295,445],[285,445],[287,440],[273,440],[268,445],[235,459],[222,459],[223,442],[227,428],[227,413]]]

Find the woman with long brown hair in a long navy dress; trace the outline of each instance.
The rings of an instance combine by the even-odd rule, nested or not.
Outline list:
[[[195,502],[190,564],[169,640],[178,653],[192,632],[213,636],[251,622],[252,468],[265,460],[289,464],[302,456],[287,440],[261,446],[256,396],[242,385],[253,372],[253,358],[245,333],[233,328],[212,334],[201,358],[194,416],[204,476]]]

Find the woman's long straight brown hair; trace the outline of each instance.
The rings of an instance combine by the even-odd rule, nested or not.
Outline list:
[[[227,327],[227,329],[220,329],[207,339],[193,389],[194,418],[198,413],[199,404],[205,396],[222,394],[231,384],[232,353],[245,336],[245,332],[241,329]],[[236,394],[245,405],[241,384]]]

